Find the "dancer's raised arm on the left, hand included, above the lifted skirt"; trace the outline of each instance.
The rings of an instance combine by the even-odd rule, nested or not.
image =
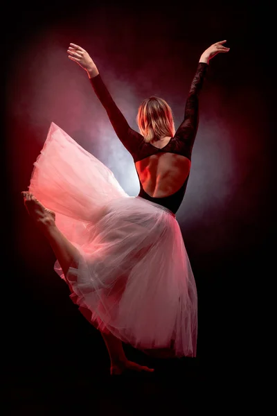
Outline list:
[[[109,121],[111,121],[111,125],[113,126],[118,139],[120,139],[123,146],[134,155],[138,146],[141,144],[141,141],[143,141],[143,137],[129,127],[122,112],[120,112],[113,98],[111,98],[111,94],[109,94],[107,87],[103,83],[96,64],[89,56],[89,53],[76,44],[70,44],[67,52],[69,53],[69,58],[71,60],[77,62],[80,67],[87,71],[91,85],[98,96],[100,103],[102,103],[105,108],[107,115],[109,116]]]

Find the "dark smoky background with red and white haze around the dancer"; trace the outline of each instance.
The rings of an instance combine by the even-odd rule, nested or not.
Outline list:
[[[269,354],[267,293],[274,279],[272,14],[267,3],[256,8],[234,2],[6,6],[1,141],[8,414],[186,411],[195,392],[213,388],[215,399],[219,388],[258,379]],[[84,71],[63,61],[62,53],[69,42],[91,51],[135,128],[139,102],[153,93],[166,98],[181,121],[199,55],[224,39],[231,50],[210,62],[192,173],[177,215],[199,294],[197,358],[154,360],[125,345],[130,359],[157,371],[114,381],[100,333],[55,275],[53,253],[20,195],[51,121],[105,162],[125,191],[137,191],[136,184],[124,182],[132,161],[117,144]],[[126,103],[129,85],[134,89]],[[98,116],[91,121],[94,107]]]

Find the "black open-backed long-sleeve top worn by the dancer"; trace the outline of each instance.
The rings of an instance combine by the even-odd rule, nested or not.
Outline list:
[[[191,153],[197,134],[199,120],[199,92],[202,89],[207,68],[208,64],[205,64],[204,62],[199,62],[197,71],[193,78],[193,82],[190,86],[188,98],[186,100],[184,120],[177,129],[174,137],[172,137],[168,144],[166,144],[166,146],[163,146],[163,148],[157,148],[152,144],[147,143],[143,139],[143,136],[139,134],[139,132],[136,132],[135,130],[129,127],[129,124],[127,123],[125,117],[118,109],[116,103],[114,103],[113,98],[111,98],[111,95],[109,94],[107,87],[103,83],[100,74],[98,74],[98,76],[94,78],[91,78],[91,85],[94,91],[96,92],[96,95],[98,96],[100,102],[102,103],[103,107],[105,107],[107,115],[109,116],[109,120],[111,121],[111,124],[114,127],[118,139],[120,139],[123,146],[125,146],[125,148],[132,155],[134,163],[139,162],[142,159],[145,159],[145,157],[156,155],[157,153],[161,152],[175,153],[177,155],[182,155],[187,157],[188,159],[191,159]],[[152,196],[148,195],[148,193],[144,191],[140,179],[139,182],[141,187],[139,196],[141,196],[141,198],[162,205],[163,207],[170,209],[170,211],[172,211],[175,214],[184,198],[188,177],[186,178],[186,181],[177,192],[163,198],[153,198]]]

